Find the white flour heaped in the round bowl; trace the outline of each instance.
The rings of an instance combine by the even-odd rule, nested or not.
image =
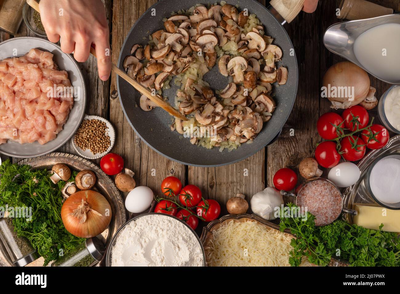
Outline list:
[[[167,215],[130,222],[112,248],[112,266],[202,266],[201,246],[184,224]]]

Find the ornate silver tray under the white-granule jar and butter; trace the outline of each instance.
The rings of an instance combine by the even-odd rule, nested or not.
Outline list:
[[[400,152],[400,135],[390,138],[389,142],[382,148],[370,151],[359,163],[358,168],[360,169],[361,175],[358,181],[347,187],[343,192],[343,206],[354,209],[354,205],[358,203],[375,204],[378,205],[368,192],[365,186],[365,175],[368,171],[368,167],[378,158],[380,155]],[[379,206],[379,205],[378,205]],[[346,214],[347,221],[352,224],[353,216]]]

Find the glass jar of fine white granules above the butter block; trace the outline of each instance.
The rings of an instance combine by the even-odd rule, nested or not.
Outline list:
[[[400,209],[400,153],[379,156],[368,168],[366,187],[382,207]]]

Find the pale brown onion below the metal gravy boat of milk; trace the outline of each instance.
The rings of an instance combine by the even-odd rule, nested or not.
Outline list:
[[[370,78],[360,66],[350,61],[342,61],[328,68],[322,80],[322,86],[322,97],[326,97],[332,102],[332,108],[345,109],[357,105],[365,99],[370,91]],[[354,100],[349,100],[349,97],[330,97],[329,89],[335,89],[338,92],[344,89],[342,87],[352,91]],[[328,89],[326,96],[324,96],[324,88]]]

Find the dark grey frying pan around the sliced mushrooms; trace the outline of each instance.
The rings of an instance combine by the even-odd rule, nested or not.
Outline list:
[[[214,2],[215,1],[211,1],[210,3]],[[201,167],[221,166],[241,161],[253,155],[278,137],[292,111],[296,99],[298,86],[297,60],[294,50],[291,50],[293,44],[281,22],[278,21],[265,6],[254,0],[240,0],[240,2],[235,0],[227,2],[231,5],[239,4],[239,11],[247,8],[249,15],[252,13],[257,15],[258,19],[264,24],[266,35],[272,36],[272,38],[275,39],[274,44],[282,48],[283,57],[282,61],[278,63],[278,66],[285,66],[288,68],[289,72],[286,85],[279,87],[274,85],[273,91],[275,93],[274,99],[276,101],[276,109],[270,121],[264,123],[262,131],[254,139],[253,143],[244,143],[231,152],[227,150],[220,152],[218,147],[206,149],[201,146],[192,145],[188,138],[182,138],[182,135],[178,132],[170,130],[173,118],[168,115],[168,113],[160,108],[153,109],[152,111],[143,111],[140,107],[137,107],[136,105],[139,105],[141,94],[132,89],[131,85],[117,76],[120,103],[126,119],[136,134],[139,135],[148,146],[161,155],[186,165]],[[290,4],[300,2],[301,6],[298,11],[301,10],[303,1],[290,0],[289,2]],[[150,34],[156,30],[164,29],[163,18],[168,18],[172,11],[176,12],[181,9],[187,10],[198,3],[206,5],[209,2],[205,2],[204,0],[161,0],[151,6],[135,22],[128,33],[122,45],[118,59],[118,67],[123,70],[122,63],[124,58],[130,54],[130,49],[134,44],[147,44],[146,42]],[[277,8],[275,5],[274,7]],[[276,12],[273,8],[272,11]],[[281,14],[283,15],[282,12]],[[289,22],[291,19],[290,17],[286,17],[286,20]],[[282,23],[284,22],[283,20]],[[228,78],[222,76],[218,71],[218,66],[214,66],[212,70],[204,75],[203,79],[208,82],[210,87],[214,90],[224,89],[229,83]],[[173,83],[170,83],[170,85],[173,85]],[[172,87],[171,89],[163,91],[162,94],[164,97],[169,97],[169,102],[173,106],[177,89],[178,87]]]

